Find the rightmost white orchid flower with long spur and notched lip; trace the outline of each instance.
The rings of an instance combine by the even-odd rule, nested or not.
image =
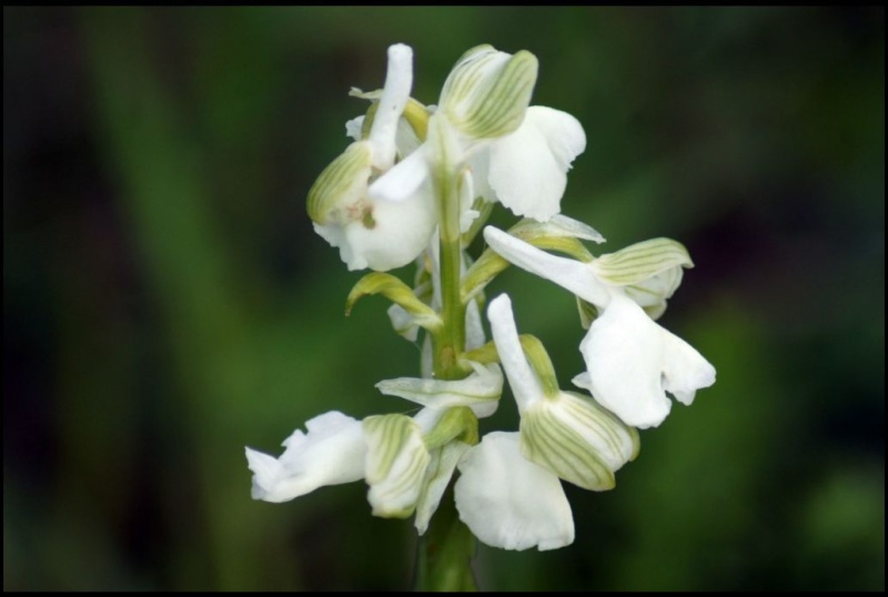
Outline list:
[[[574,383],[588,389],[627,425],[656,427],[672,408],[666,392],[690,404],[697,389],[715,383],[715,367],[654,322],[627,292],[630,285],[640,284],[648,290],[659,286],[670,295],[677,276],[669,272],[682,266],[675,254],[677,243],[662,240],[639,250],[637,259],[616,264],[618,260],[602,262],[599,257],[582,263],[552,255],[491,226],[484,237],[511,263],[567,289],[599,310],[581,344],[587,373]],[[646,280],[654,279],[665,282],[645,286]]]

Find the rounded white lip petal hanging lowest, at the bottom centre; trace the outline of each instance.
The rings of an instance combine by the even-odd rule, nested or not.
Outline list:
[[[521,455],[517,433],[485,435],[458,466],[460,519],[483,543],[545,550],[574,542],[571,505],[558,477]]]

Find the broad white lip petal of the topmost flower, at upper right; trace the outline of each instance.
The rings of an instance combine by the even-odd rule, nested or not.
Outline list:
[[[514,133],[490,145],[490,186],[516,215],[545,221],[561,212],[571,162],[586,146],[579,122],[558,110],[531,107]]]

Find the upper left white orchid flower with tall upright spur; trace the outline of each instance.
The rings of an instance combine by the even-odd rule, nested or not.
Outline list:
[[[431,191],[421,185],[397,201],[367,192],[373,181],[391,172],[398,153],[396,140],[403,138],[398,130],[404,128],[401,117],[410,101],[412,62],[410,47],[389,48],[385,87],[367,139],[352,143],[309,191],[315,232],[340,249],[350,270],[406,265],[425,250],[437,223]],[[350,134],[355,134],[356,124],[346,125]]]

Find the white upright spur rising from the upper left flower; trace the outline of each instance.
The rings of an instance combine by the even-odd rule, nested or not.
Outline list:
[[[397,121],[407,105],[413,85],[413,50],[403,43],[389,48],[389,69],[385,87],[373,118],[369,141],[373,146],[373,166],[379,170],[392,168],[395,161],[395,134]]]

